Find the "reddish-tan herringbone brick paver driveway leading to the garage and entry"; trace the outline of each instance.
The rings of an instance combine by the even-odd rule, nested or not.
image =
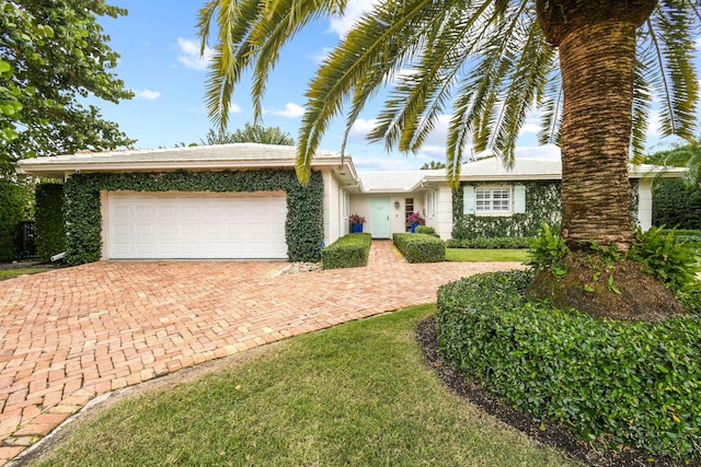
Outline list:
[[[517,264],[366,268],[104,261],[0,282],[0,465],[97,395],[290,336],[435,302],[439,284]]]

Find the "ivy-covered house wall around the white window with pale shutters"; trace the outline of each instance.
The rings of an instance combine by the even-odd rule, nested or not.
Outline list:
[[[562,198],[560,182],[519,182],[526,187],[526,212],[512,215],[464,214],[464,186],[495,186],[495,183],[463,183],[452,197],[452,238],[526,237],[539,234],[542,223],[559,229]],[[637,180],[631,180],[631,215],[637,222]]]

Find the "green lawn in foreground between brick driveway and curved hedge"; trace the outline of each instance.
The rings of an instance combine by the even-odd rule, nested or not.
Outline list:
[[[42,465],[572,466],[451,394],[432,305],[299,336],[81,422]]]

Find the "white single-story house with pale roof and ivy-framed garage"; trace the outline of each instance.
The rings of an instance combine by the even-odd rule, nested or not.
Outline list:
[[[366,218],[375,238],[406,232],[420,212],[443,238],[522,236],[556,222],[561,164],[469,162],[453,192],[443,170],[358,173],[350,156],[319,151],[301,186],[292,147],[211,147],[78,153],[21,161],[30,175],[64,182],[67,257],[99,259],[318,260],[324,244]],[[652,221],[652,172],[631,166],[633,218]],[[680,177],[681,170],[664,176]]]

